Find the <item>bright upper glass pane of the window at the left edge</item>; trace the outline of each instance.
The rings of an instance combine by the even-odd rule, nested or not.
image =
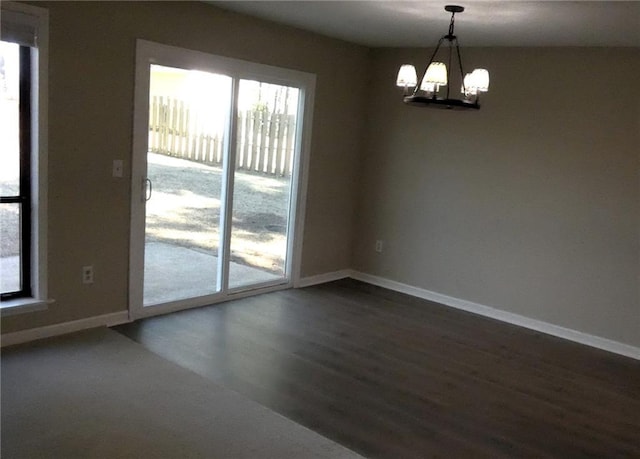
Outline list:
[[[0,195],[17,196],[20,183],[20,47],[0,42]]]

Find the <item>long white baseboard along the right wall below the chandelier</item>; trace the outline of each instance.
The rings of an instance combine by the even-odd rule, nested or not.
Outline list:
[[[601,338],[599,336],[590,335],[588,333],[572,330],[570,328],[560,327],[558,325],[543,322],[541,320],[531,319],[529,317],[514,314],[512,312],[503,311],[501,309],[492,308],[490,306],[484,306],[482,304],[473,303],[471,301],[461,300],[459,298],[454,298],[451,296],[443,295],[441,293],[413,287],[411,285],[392,281],[383,277],[373,276],[371,274],[352,271],[350,277],[362,282],[366,282],[368,284],[377,285],[379,287],[384,287],[396,292],[406,293],[407,295],[434,301],[445,306],[462,309],[463,311],[472,312],[474,314],[490,317],[502,322],[529,328],[531,330],[536,330],[548,335],[557,336],[559,338],[568,339],[576,343],[585,344],[587,346],[603,349],[615,354],[620,354],[626,357],[640,360],[640,348],[620,343],[618,341]]]

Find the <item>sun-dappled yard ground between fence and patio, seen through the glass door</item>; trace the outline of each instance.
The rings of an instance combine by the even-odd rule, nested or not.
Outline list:
[[[222,170],[149,153],[152,182],[147,242],[164,242],[217,256]],[[289,178],[237,171],[231,260],[281,274],[286,254]]]

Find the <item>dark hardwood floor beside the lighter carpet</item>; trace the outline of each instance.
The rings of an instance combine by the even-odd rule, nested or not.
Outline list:
[[[353,280],[116,330],[372,458],[640,457],[640,361]]]

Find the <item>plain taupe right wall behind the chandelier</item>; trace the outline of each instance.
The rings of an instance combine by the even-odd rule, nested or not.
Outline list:
[[[428,56],[373,55],[355,268],[640,346],[640,50],[465,49],[474,113],[402,104]]]

